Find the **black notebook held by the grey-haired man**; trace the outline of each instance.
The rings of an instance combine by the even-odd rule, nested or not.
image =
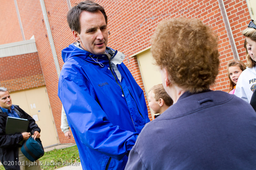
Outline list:
[[[5,134],[15,134],[27,132],[28,130],[28,119],[21,119],[17,117],[7,117],[7,122],[5,125]]]

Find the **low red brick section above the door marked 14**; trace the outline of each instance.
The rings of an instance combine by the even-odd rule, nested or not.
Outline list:
[[[44,86],[38,53],[0,58],[0,86],[11,92]]]

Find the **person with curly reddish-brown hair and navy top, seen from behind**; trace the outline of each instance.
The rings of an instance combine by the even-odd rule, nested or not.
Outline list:
[[[219,72],[217,41],[196,18],[156,27],[151,52],[174,104],[142,129],[126,170],[255,169],[255,111],[235,95],[209,88]]]

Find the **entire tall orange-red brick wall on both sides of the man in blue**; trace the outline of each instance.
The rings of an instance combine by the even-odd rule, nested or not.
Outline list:
[[[17,0],[17,2],[26,39],[30,39],[32,35],[35,36],[39,60],[60,142],[72,142],[74,140],[67,140],[59,128],[61,102],[57,96],[58,76],[40,2],[35,0]],[[60,67],[62,67],[61,49],[74,42],[66,21],[66,14],[68,12],[67,1],[44,0],[44,2],[58,61]],[[70,2],[74,6],[75,3],[79,3],[80,1],[70,0]],[[108,15],[108,31],[110,33],[108,46],[125,53],[127,58],[124,60],[124,63],[143,90],[145,89],[137,59],[131,56],[150,47],[150,37],[161,20],[173,17],[187,17],[202,20],[218,33],[220,74],[212,89],[228,91],[227,63],[233,60],[234,57],[218,0],[95,0],[95,2],[104,6]],[[224,0],[224,4],[239,57],[244,61],[244,37],[241,35],[241,32],[246,28],[250,20],[246,1]],[[0,30],[2,32],[5,31],[5,34],[0,35],[0,44],[21,41],[20,28],[19,25],[17,26],[18,20],[15,17],[16,10],[14,3],[2,3],[0,14],[4,16],[4,19],[0,20],[0,24],[4,28],[1,27]],[[14,26],[6,27],[6,23],[10,22]]]

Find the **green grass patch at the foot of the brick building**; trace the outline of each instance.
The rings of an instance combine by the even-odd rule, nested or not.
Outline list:
[[[44,152],[44,156],[39,159],[42,169],[51,170],[62,166],[80,164],[77,146],[71,146],[64,149],[54,149]],[[4,166],[0,166],[0,170],[4,170]]]

